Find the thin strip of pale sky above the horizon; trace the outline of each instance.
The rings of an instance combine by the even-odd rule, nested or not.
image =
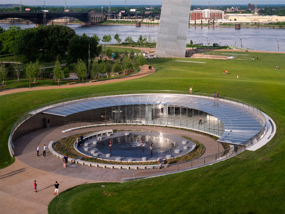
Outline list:
[[[126,0],[127,5],[161,5],[162,0]],[[175,1],[175,0],[173,0]],[[0,4],[22,5],[65,5],[65,0],[0,0]],[[255,0],[210,0],[210,5],[248,5],[255,4]],[[285,0],[258,0],[258,5],[285,4]],[[66,0],[67,6],[73,5],[109,5],[108,0]],[[125,5],[125,0],[111,0],[111,5]],[[209,5],[209,0],[192,0],[191,5]]]

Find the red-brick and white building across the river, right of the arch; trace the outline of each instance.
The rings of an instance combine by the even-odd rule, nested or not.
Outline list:
[[[221,10],[192,10],[190,12],[191,20],[195,19],[223,19],[224,12]]]

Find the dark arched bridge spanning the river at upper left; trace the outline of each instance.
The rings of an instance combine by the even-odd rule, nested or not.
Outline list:
[[[73,12],[40,12],[40,13],[27,13],[27,12],[0,12],[0,19],[6,18],[22,18],[29,20],[37,25],[46,25],[50,21],[62,17],[72,17],[81,21],[82,25],[96,24],[105,19],[104,13],[73,13]]]

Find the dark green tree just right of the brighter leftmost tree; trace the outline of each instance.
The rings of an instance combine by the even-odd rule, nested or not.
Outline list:
[[[37,59],[40,53],[39,37],[36,28],[21,30],[12,43],[12,51],[16,56],[24,55],[27,60]]]

